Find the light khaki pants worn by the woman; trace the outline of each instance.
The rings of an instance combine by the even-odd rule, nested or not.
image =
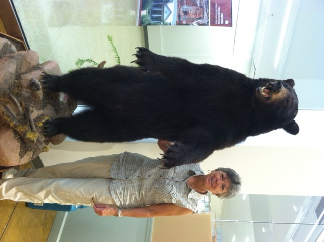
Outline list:
[[[117,207],[110,192],[110,170],[116,157],[98,156],[18,171],[14,178],[0,180],[0,200]]]

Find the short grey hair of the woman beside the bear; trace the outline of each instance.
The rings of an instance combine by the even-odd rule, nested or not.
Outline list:
[[[227,174],[228,180],[231,182],[231,186],[225,193],[218,194],[220,199],[228,199],[236,196],[241,190],[241,177],[233,169],[228,167],[219,167],[215,171],[225,172]]]

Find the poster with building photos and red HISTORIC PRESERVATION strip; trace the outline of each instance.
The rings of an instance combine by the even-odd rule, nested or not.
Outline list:
[[[232,27],[232,0],[139,0],[137,25]]]

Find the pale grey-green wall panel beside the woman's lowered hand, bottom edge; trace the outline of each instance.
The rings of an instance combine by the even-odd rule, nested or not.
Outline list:
[[[59,240],[47,242],[150,242],[151,224],[150,218],[98,216],[88,207],[68,212]]]

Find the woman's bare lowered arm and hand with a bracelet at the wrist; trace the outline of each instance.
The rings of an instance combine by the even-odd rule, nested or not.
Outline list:
[[[118,209],[107,204],[95,204],[95,213],[100,216],[118,216]],[[150,218],[191,214],[193,211],[174,204],[155,204],[133,209],[121,209],[121,217]]]

